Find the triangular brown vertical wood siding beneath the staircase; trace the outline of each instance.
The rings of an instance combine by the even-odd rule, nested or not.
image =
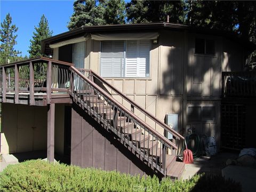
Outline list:
[[[75,104],[71,121],[71,164],[151,175],[151,170]]]

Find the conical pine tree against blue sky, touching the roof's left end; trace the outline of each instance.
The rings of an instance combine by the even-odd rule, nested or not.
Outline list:
[[[29,46],[29,58],[39,57],[42,55],[41,52],[41,41],[44,38],[51,37],[52,31],[49,29],[48,21],[43,14],[38,27],[35,27],[35,32],[33,32],[32,39],[30,39],[30,46]]]

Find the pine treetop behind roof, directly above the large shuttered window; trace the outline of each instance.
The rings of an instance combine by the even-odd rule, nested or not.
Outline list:
[[[125,2],[124,0],[106,1],[104,18],[108,25],[125,23]]]

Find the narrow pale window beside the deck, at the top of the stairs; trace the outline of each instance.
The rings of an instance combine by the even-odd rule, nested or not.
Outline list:
[[[76,68],[84,68],[85,42],[74,43],[72,53],[72,63]]]

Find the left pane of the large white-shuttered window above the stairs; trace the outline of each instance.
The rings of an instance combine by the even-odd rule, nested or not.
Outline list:
[[[101,76],[122,77],[123,76],[123,41],[101,42]]]

